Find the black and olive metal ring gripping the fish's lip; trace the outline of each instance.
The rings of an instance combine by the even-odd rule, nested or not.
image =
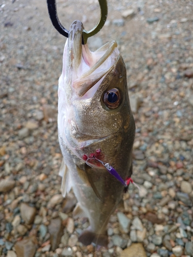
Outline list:
[[[107,0],[98,0],[98,2],[100,5],[100,19],[97,25],[93,29],[89,31],[86,31],[85,29],[83,29],[82,31],[83,45],[87,43],[88,38],[95,35],[101,30],[101,28],[104,26],[104,23],[107,20],[107,14],[108,14]],[[52,22],[52,25],[55,27],[56,30],[58,30],[60,34],[68,38],[69,31],[62,26],[62,24],[58,19],[56,0],[47,0],[47,8],[48,8],[48,13],[49,13],[49,17]]]

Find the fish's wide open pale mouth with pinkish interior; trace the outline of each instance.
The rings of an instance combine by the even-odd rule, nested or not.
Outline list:
[[[80,21],[74,21],[69,28],[67,49],[64,51],[65,73],[68,76],[68,85],[72,85],[76,97],[91,98],[104,76],[116,65],[119,51],[115,41],[94,52],[90,51],[87,44],[82,45],[82,31],[83,24]]]

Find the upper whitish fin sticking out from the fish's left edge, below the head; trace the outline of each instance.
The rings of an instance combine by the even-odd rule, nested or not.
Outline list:
[[[62,191],[63,197],[65,197],[66,194],[72,188],[72,181],[71,181],[71,176],[69,174],[67,165],[64,162],[64,159],[62,160],[62,163],[61,163],[59,175],[62,177],[61,191]]]

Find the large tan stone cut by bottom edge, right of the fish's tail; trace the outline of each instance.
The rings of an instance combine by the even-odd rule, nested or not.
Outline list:
[[[142,244],[132,244],[120,253],[120,257],[147,257]]]

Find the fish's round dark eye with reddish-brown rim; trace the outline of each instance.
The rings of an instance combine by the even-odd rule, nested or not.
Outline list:
[[[120,104],[119,90],[117,88],[112,88],[104,93],[103,102],[110,109],[117,108]]]

